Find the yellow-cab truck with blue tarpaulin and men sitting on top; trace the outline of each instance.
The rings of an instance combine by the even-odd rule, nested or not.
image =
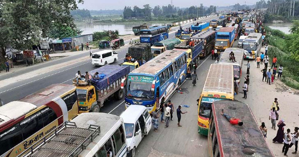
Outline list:
[[[99,79],[91,78],[90,83],[87,80],[73,80],[76,86],[79,113],[99,112],[103,107],[104,101],[108,98],[121,100],[123,98],[123,89],[120,89],[121,80],[130,72],[129,67],[119,65],[104,65],[100,68],[89,71],[89,74],[99,73]]]

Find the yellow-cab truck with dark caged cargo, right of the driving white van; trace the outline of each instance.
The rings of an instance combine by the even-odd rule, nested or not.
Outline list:
[[[150,43],[136,43],[129,47],[128,54],[135,60],[141,60],[142,58],[146,62],[153,58]],[[141,65],[135,61],[124,60],[124,63],[122,63],[121,66],[128,66],[130,67],[130,71],[133,71]]]

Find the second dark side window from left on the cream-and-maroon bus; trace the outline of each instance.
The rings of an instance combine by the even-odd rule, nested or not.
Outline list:
[[[42,123],[42,115],[38,115],[39,113],[40,111],[21,121],[20,125],[22,127],[22,134],[24,139],[30,137],[32,134],[38,132],[44,127]]]

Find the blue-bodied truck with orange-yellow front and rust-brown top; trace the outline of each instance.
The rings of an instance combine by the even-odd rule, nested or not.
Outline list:
[[[222,27],[216,33],[215,48],[217,51],[222,52],[226,48],[233,46],[235,41],[235,28]]]

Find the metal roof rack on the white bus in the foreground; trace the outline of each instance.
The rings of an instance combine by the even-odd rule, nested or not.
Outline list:
[[[89,128],[85,129],[77,127],[74,122],[66,121],[18,157],[43,157],[45,154],[59,157],[78,156],[98,135],[98,125],[90,124]]]

